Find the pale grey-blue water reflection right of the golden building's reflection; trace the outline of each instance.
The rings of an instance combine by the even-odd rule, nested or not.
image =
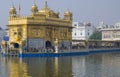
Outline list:
[[[120,54],[72,58],[73,77],[120,77]]]

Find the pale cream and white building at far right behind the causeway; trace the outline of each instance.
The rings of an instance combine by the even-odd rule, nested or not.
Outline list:
[[[120,22],[115,25],[103,25],[102,26],[102,40],[114,41],[120,40]]]

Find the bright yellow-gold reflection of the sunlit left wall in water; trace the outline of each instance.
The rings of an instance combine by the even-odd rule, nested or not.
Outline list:
[[[9,60],[9,77],[31,77],[27,73],[27,65],[19,58]]]

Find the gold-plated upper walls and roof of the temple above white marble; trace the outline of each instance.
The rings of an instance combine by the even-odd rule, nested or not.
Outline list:
[[[72,40],[72,13],[65,12],[62,19],[59,13],[48,8],[47,2],[39,11],[34,4],[29,16],[13,15],[10,10],[8,23],[9,43],[25,45],[28,39],[44,39],[50,42],[55,39],[59,42]]]

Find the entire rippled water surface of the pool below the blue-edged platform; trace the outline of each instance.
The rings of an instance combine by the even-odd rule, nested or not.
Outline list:
[[[120,77],[120,53],[47,58],[0,56],[0,77]]]

